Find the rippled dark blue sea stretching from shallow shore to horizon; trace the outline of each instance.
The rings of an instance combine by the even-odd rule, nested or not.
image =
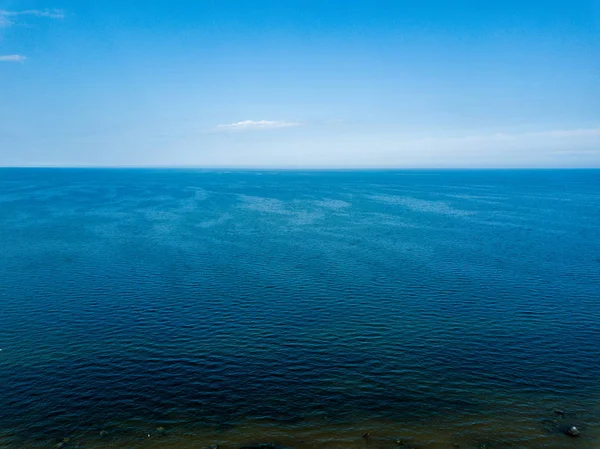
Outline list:
[[[3,169],[0,237],[0,447],[600,444],[600,171]]]

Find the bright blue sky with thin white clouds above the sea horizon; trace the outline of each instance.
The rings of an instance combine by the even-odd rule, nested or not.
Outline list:
[[[0,0],[0,165],[600,167],[600,0]]]

